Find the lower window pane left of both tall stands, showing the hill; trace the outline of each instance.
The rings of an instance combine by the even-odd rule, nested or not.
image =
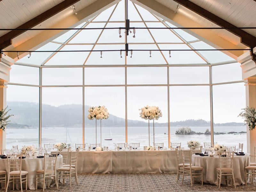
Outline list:
[[[82,87],[42,88],[42,143],[82,141]]]

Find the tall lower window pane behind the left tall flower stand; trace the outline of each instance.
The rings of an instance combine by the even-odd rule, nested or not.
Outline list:
[[[108,119],[101,121],[101,146],[114,148],[113,143],[125,142],[124,87],[85,87],[85,142],[96,143],[96,120],[87,118],[90,107],[105,106]],[[105,140],[112,139],[112,140]],[[97,143],[100,143],[100,120],[97,120]]]

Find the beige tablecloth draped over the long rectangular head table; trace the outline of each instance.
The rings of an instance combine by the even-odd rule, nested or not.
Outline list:
[[[79,151],[78,173],[176,172],[175,150]]]

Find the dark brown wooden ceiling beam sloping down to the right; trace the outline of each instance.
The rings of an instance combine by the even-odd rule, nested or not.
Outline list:
[[[173,0],[180,5],[183,5],[184,7],[188,8],[189,10],[199,14],[200,16],[204,17],[207,20],[212,21],[213,23],[219,25],[223,28],[237,28],[235,25],[232,25],[226,20],[221,19],[220,17],[212,14],[211,12],[203,9],[202,7],[198,6],[197,4],[192,3],[188,0]],[[251,34],[245,32],[242,29],[226,29],[229,32],[235,34],[236,36],[240,37],[240,41],[242,44],[248,46],[248,47],[255,47],[256,46],[256,37],[252,36]]]

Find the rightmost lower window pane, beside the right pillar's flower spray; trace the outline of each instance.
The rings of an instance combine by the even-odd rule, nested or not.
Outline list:
[[[214,85],[212,95],[214,142],[236,148],[244,143],[243,151],[246,151],[246,126],[238,117],[245,106],[244,83]]]

